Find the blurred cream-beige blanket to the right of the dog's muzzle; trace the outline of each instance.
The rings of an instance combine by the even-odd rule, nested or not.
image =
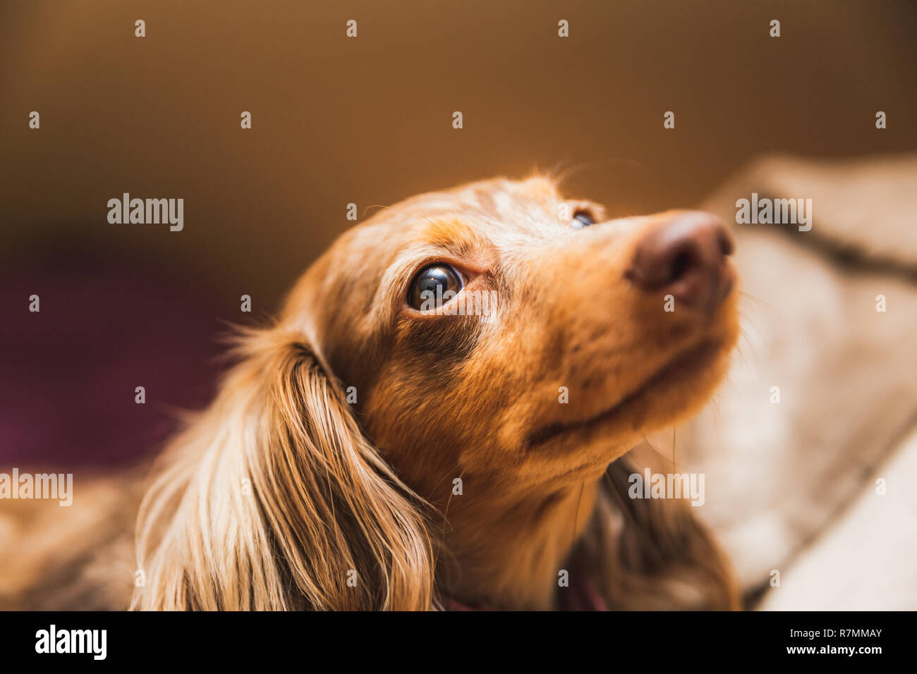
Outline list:
[[[812,228],[734,225],[743,337],[679,464],[705,474],[698,511],[765,607],[917,608],[917,157],[768,158],[702,207],[735,223],[752,193],[812,199]],[[857,540],[870,516],[885,535]],[[861,546],[878,549],[854,564]],[[833,602],[838,578],[868,606]]]

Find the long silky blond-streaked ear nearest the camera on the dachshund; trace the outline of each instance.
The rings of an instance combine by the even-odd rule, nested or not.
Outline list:
[[[429,608],[424,504],[361,434],[315,351],[277,329],[241,350],[141,507],[133,606]]]

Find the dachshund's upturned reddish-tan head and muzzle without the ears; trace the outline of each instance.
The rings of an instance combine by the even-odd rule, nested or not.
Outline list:
[[[348,232],[283,322],[425,498],[459,474],[578,483],[709,399],[737,331],[731,248],[712,215],[605,221],[544,178],[478,182]]]

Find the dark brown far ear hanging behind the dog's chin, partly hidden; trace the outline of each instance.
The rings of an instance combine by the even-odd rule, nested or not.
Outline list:
[[[574,552],[614,609],[739,608],[724,554],[680,499],[631,499],[628,456],[609,466]]]

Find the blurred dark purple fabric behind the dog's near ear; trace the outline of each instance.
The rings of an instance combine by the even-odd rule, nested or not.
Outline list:
[[[0,466],[126,464],[158,450],[176,412],[214,391],[228,331],[217,316],[247,316],[195,281],[79,255],[0,271]]]

